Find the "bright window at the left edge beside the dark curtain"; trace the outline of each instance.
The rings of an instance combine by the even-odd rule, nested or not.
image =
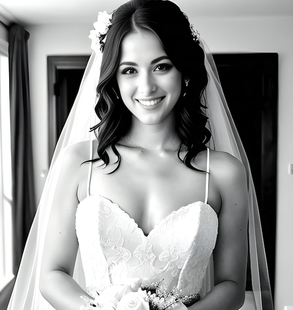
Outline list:
[[[0,290],[13,277],[11,192],[8,56],[0,53]]]

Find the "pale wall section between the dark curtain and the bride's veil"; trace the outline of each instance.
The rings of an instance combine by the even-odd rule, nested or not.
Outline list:
[[[89,25],[41,25],[27,27],[32,113],[32,139],[35,162],[36,199],[39,202],[49,169],[47,56],[90,55]]]

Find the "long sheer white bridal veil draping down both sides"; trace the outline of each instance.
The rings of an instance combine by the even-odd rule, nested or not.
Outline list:
[[[209,117],[208,128],[212,133],[209,147],[214,150],[228,152],[240,159],[245,165],[249,187],[248,230],[254,300],[257,310],[273,310],[262,231],[248,160],[225,101],[211,52],[201,39],[200,46],[206,55],[205,66],[208,72],[208,85],[206,88],[206,106],[208,108],[206,111]],[[98,85],[101,58],[102,54],[100,52],[93,52],[90,57],[77,98],[58,140],[8,310],[53,310],[39,291],[45,235],[66,149],[75,143],[95,139],[94,133],[89,130],[93,124],[98,122],[94,107],[97,102],[96,87]],[[212,272],[206,274],[212,278]],[[85,286],[79,253],[76,258],[74,278],[82,287]],[[210,282],[212,281],[208,278],[206,281],[207,287]]]

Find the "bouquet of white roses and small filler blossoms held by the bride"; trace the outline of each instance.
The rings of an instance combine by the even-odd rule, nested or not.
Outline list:
[[[200,296],[182,295],[176,287],[169,290],[163,280],[151,282],[135,278],[126,285],[112,285],[102,291],[95,302],[105,310],[186,310]]]

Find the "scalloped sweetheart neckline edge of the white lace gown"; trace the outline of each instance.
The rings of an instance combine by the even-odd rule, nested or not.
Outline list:
[[[98,197],[99,199],[103,199],[103,200],[109,202],[111,205],[116,206],[117,209],[119,209],[119,210],[121,210],[122,212],[124,212],[124,213],[129,217],[129,219],[132,220],[132,221],[134,222],[134,224],[136,225],[136,227],[141,231],[141,233],[142,233],[146,238],[151,234],[151,232],[155,229],[156,226],[158,226],[159,224],[163,223],[163,222],[164,222],[165,220],[167,220],[172,214],[178,213],[178,212],[179,212],[180,210],[182,210],[183,208],[191,207],[191,206],[193,206],[193,205],[195,205],[195,204],[202,204],[202,205],[205,205],[205,206],[209,207],[209,209],[211,209],[211,210],[213,211],[213,213],[216,215],[216,217],[218,218],[218,214],[216,213],[216,211],[215,211],[209,204],[203,203],[203,202],[201,202],[201,201],[196,201],[196,202],[193,202],[193,203],[188,204],[188,205],[186,205],[186,206],[179,207],[177,210],[174,210],[174,211],[170,212],[167,216],[165,216],[164,218],[162,218],[161,220],[159,220],[157,223],[155,223],[155,225],[153,226],[153,228],[149,230],[149,233],[146,234],[146,233],[144,232],[144,230],[138,225],[138,223],[136,222],[136,220],[135,220],[132,216],[130,216],[130,214],[129,214],[128,212],[126,212],[126,211],[125,211],[122,207],[120,207],[118,204],[112,202],[110,199],[108,199],[108,198],[106,198],[106,197],[104,197],[104,196],[102,196],[102,195],[99,195],[99,194],[88,195],[86,198],[84,198],[84,199],[78,204],[77,210],[78,210],[79,206],[80,206],[84,201],[86,201],[89,197],[94,197],[94,198],[95,198],[95,197]]]

